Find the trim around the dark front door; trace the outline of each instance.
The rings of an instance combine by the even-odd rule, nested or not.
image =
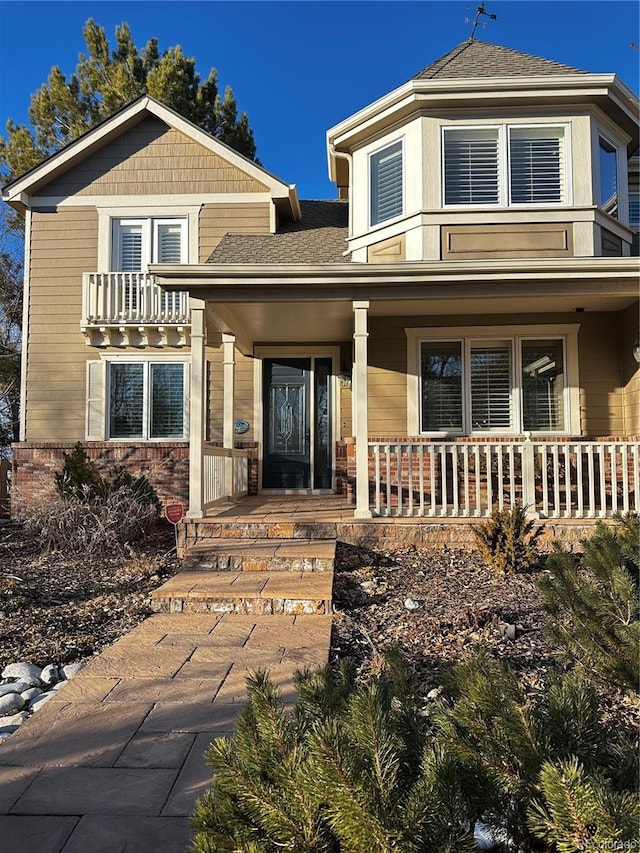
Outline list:
[[[339,346],[258,346],[254,350],[253,365],[253,421],[254,435],[258,444],[258,492],[263,495],[327,495],[336,488],[336,437],[340,435],[340,394],[338,393],[338,371],[340,368]],[[330,489],[263,489],[262,460],[264,458],[264,405],[262,387],[262,361],[265,358],[330,358],[331,359],[331,488]],[[313,370],[311,372],[313,385]],[[311,470],[313,471],[313,441],[311,442]]]

